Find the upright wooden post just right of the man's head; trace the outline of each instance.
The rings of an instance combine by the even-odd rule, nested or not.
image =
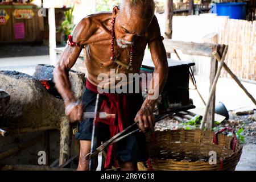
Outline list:
[[[165,10],[167,20],[166,20],[166,38],[172,38],[172,16],[174,16],[174,0],[167,0]]]

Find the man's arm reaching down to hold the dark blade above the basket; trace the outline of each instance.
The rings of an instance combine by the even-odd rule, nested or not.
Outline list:
[[[144,100],[141,110],[138,111],[134,119],[134,121],[139,122],[139,128],[143,132],[146,132],[149,128],[152,129],[155,126],[155,118],[152,111],[168,77],[166,49],[164,48],[158,20],[155,16],[148,27],[147,36],[148,46],[155,65],[155,70],[150,82],[148,96],[146,97],[146,100]]]

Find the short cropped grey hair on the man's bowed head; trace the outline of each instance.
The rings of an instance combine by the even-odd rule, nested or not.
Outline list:
[[[144,20],[151,20],[155,14],[155,1],[154,0],[120,0],[119,9],[122,10],[123,2],[129,2],[131,9],[137,6],[143,6],[142,18]]]

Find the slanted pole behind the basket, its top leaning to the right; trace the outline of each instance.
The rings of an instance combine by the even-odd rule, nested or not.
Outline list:
[[[216,51],[213,52],[213,55]],[[205,121],[206,121],[206,118],[207,118],[207,114],[208,114],[208,111],[209,111],[209,107],[210,107],[210,103],[212,101],[212,97],[213,97],[213,94],[215,92],[215,89],[216,89],[216,84],[217,84],[217,81],[218,81],[218,77],[220,77],[220,73],[221,73],[221,69],[223,67],[223,64],[224,64],[224,60],[225,60],[225,57],[226,57],[226,53],[228,52],[228,46],[225,46],[224,48],[224,52],[222,54],[222,57],[221,57],[221,62],[220,62],[220,65],[218,66],[218,70],[217,70],[217,73],[216,73],[216,76],[214,78],[214,81],[213,81],[213,84],[212,84],[212,88],[210,89],[210,94],[209,94],[209,98],[208,98],[208,102],[207,102],[207,105],[205,107],[205,113],[204,113],[204,117],[201,121],[201,126],[200,126],[200,129],[203,130],[204,128],[204,125],[205,125]],[[214,121],[213,121],[214,122]]]

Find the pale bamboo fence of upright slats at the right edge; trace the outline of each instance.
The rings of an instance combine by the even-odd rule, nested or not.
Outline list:
[[[226,19],[218,37],[229,46],[225,63],[239,78],[256,80],[256,21]],[[222,71],[222,77],[230,77]]]

